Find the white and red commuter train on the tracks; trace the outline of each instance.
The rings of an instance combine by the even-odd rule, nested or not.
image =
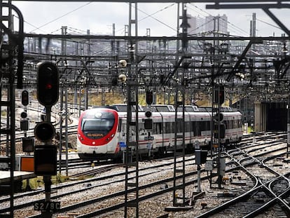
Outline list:
[[[174,151],[174,135],[177,135],[177,149],[182,148],[183,134],[186,151],[193,151],[196,144],[209,148],[212,144],[212,113],[210,108],[186,106],[177,113],[172,105],[153,105],[150,107],[152,129],[146,127],[148,109],[138,110],[138,132],[130,131],[130,138],[138,134],[140,155],[163,155]],[[242,139],[242,114],[231,108],[221,108],[225,136],[222,144],[233,144]],[[176,119],[177,114],[177,119]],[[132,121],[135,121],[132,111]],[[126,147],[127,106],[117,104],[113,107],[97,107],[83,111],[78,122],[77,149],[82,159],[117,159],[122,157]],[[177,121],[177,123],[175,123]],[[175,133],[175,128],[177,133]],[[185,129],[184,133],[182,129]],[[214,139],[216,140],[216,139]],[[134,149],[133,149],[134,151]]]

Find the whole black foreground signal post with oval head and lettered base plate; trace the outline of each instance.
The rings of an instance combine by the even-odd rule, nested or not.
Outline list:
[[[50,201],[51,176],[57,174],[57,147],[53,145],[55,128],[50,121],[51,107],[59,96],[59,72],[53,62],[39,64],[37,71],[37,99],[46,108],[45,121],[34,128],[36,139],[41,142],[34,148],[34,174],[43,176],[46,199],[34,204],[34,210],[41,210],[41,217],[51,218],[60,209],[60,202]]]

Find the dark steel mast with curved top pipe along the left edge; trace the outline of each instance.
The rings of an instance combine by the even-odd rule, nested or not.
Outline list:
[[[13,217],[14,214],[14,169],[15,169],[15,88],[22,88],[23,70],[23,18],[22,13],[11,4],[11,1],[1,1],[1,23],[0,23],[0,111],[1,128],[0,136],[6,138],[5,156],[1,156],[0,163],[7,164],[10,168],[10,182],[0,184],[2,191],[9,190],[10,211],[9,214],[0,214],[0,217]],[[18,15],[19,29],[14,32],[13,13]],[[4,41],[5,39],[5,41]],[[15,65],[15,60],[18,62]],[[15,84],[15,70],[17,83]],[[16,85],[16,86],[15,86]],[[6,111],[6,113],[2,113]],[[5,123],[5,124],[3,124]]]

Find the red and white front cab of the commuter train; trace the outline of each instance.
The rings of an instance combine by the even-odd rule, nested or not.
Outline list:
[[[82,159],[116,158],[118,113],[113,109],[90,109],[81,114],[77,148]]]

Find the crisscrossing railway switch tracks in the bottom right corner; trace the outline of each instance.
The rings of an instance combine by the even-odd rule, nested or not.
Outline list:
[[[280,142],[277,143],[276,145],[279,145]],[[256,154],[257,149],[253,149],[251,152],[256,154],[254,156],[249,156],[249,151],[240,152],[234,156],[232,154],[231,158],[235,164],[251,177],[254,186],[242,195],[228,200],[198,217],[219,217],[221,215],[233,217],[233,214],[235,217],[256,217],[266,215],[269,210],[271,214],[275,214],[274,217],[289,217],[289,202],[285,201],[290,194],[290,174],[282,173],[273,167],[281,161],[278,157],[285,155],[283,150],[285,151],[285,148],[277,148],[265,151],[263,154]],[[275,154],[277,152],[279,154]],[[272,161],[272,163],[266,164],[268,161]]]

